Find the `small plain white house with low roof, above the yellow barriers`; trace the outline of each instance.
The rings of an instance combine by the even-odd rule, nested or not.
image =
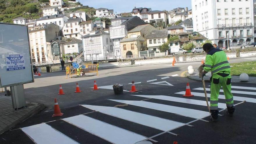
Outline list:
[[[83,50],[82,40],[71,40],[63,44],[65,54],[81,53]]]

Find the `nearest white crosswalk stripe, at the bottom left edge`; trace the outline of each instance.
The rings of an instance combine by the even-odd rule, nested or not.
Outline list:
[[[63,143],[63,144],[73,144],[77,143],[73,139],[67,137],[51,126],[41,123],[38,125],[32,125],[29,127],[23,127],[21,130],[27,134],[35,143],[45,144],[45,143]]]

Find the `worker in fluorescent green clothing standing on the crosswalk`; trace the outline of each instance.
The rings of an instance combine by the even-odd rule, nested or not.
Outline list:
[[[227,114],[232,116],[235,111],[233,95],[231,93],[230,65],[223,50],[214,49],[210,43],[204,44],[203,49],[207,55],[205,58],[205,67],[202,72],[202,77],[204,77],[207,72],[211,71],[210,118],[213,122],[217,122],[219,113],[218,96],[221,86],[223,87],[226,99]]]

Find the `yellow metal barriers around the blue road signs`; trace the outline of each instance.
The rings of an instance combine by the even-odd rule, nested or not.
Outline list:
[[[96,72],[98,75],[98,65],[97,64],[88,64],[85,65],[85,68],[80,68],[79,70],[74,68],[73,66],[66,67],[66,79],[68,77],[72,78],[72,75],[81,75],[81,74],[86,74],[90,72]]]

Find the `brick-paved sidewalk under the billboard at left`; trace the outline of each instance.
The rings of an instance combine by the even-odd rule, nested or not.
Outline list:
[[[14,111],[12,98],[0,93],[0,134],[42,111],[44,108],[43,104],[26,102],[26,108]]]

